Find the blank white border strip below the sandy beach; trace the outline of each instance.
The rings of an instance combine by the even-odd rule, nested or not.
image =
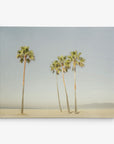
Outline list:
[[[1,144],[113,144],[111,119],[0,120]]]

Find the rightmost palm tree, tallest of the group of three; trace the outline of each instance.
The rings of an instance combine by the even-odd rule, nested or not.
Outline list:
[[[73,51],[70,53],[70,56],[68,56],[69,60],[73,62],[72,70],[74,71],[74,96],[75,96],[75,113],[77,113],[77,99],[76,99],[76,65],[79,65],[80,67],[84,66],[85,59],[80,57],[82,53]]]

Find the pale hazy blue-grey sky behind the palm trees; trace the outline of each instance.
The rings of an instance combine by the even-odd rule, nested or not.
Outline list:
[[[16,58],[21,46],[29,46],[35,61],[26,65],[25,107],[58,107],[56,77],[50,64],[57,56],[82,52],[85,67],[77,67],[78,105],[114,103],[114,28],[0,27],[0,107],[20,107],[23,67]],[[66,96],[58,76],[62,107]],[[74,105],[74,74],[65,73],[70,106]]]

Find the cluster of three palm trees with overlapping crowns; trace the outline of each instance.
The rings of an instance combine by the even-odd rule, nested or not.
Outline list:
[[[64,79],[64,73],[68,72],[70,68],[74,71],[74,96],[75,96],[75,113],[77,113],[77,99],[76,99],[76,68],[77,66],[83,67],[85,59],[81,57],[81,52],[72,51],[69,56],[59,56],[57,60],[52,62],[50,68],[53,73],[56,73],[56,85],[57,85],[57,93],[58,93],[58,102],[59,102],[59,109],[62,112],[61,102],[60,102],[60,95],[59,95],[59,89],[58,89],[58,75],[62,73],[63,78],[63,84],[65,88],[66,93],[66,103],[67,103],[67,109],[70,113],[70,105],[68,100],[68,93],[66,89],[65,79]]]

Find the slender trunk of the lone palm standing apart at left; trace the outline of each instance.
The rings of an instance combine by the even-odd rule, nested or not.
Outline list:
[[[24,109],[25,68],[26,68],[26,58],[24,59],[24,71],[23,71],[23,90],[22,90],[21,114],[23,114],[23,111],[24,111],[23,109]]]

